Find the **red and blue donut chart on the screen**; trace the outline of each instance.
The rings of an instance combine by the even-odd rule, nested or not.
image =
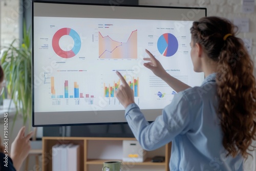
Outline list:
[[[59,46],[59,39],[64,35],[69,35],[74,40],[74,47],[70,51],[64,51]],[[52,47],[53,47],[54,52],[58,56],[60,56],[62,58],[71,58],[71,57],[74,57],[80,51],[81,39],[80,39],[80,36],[78,35],[78,33],[75,30],[70,29],[70,28],[62,28],[62,29],[59,29],[53,35]]]

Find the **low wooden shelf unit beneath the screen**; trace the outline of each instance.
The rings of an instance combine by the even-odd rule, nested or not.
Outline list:
[[[89,165],[102,165],[105,161],[114,161],[121,159],[91,159],[89,157],[89,143],[100,141],[100,142],[112,142],[118,141],[122,142],[123,140],[136,140],[135,138],[106,138],[106,137],[42,137],[42,171],[51,171],[52,170],[52,146],[59,144],[79,144],[80,145],[80,170],[91,171],[88,169]],[[165,171],[169,171],[169,159],[170,159],[170,148],[171,143],[168,143],[164,146],[165,161],[161,163],[151,162],[151,158],[146,158],[144,162],[135,162],[134,165],[147,165],[147,166],[164,166]],[[95,149],[97,150],[97,149]],[[130,164],[129,162],[122,162],[123,165]]]

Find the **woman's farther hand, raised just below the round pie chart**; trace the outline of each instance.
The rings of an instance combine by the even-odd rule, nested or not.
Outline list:
[[[146,53],[150,56],[150,58],[143,58],[143,60],[147,60],[149,62],[144,63],[144,66],[148,69],[150,69],[156,76],[162,78],[167,72],[164,70],[163,66],[157,60],[150,51],[145,50]]]

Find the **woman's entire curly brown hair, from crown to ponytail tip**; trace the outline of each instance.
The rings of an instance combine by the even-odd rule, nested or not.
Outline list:
[[[243,41],[236,37],[238,28],[224,18],[203,17],[193,23],[190,32],[194,44],[200,44],[207,56],[218,62],[220,101],[216,112],[227,156],[247,158],[247,149],[256,140],[256,85],[253,62]]]

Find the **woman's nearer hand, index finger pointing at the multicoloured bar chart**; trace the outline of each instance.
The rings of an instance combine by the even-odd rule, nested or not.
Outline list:
[[[119,100],[119,102],[124,106],[124,108],[126,109],[126,107],[131,104],[134,103],[134,92],[133,90],[130,88],[129,84],[125,81],[125,79],[123,78],[123,76],[117,71],[116,74],[119,76],[122,84],[121,86],[117,89],[117,91],[115,91],[115,95],[117,97],[117,99]]]

